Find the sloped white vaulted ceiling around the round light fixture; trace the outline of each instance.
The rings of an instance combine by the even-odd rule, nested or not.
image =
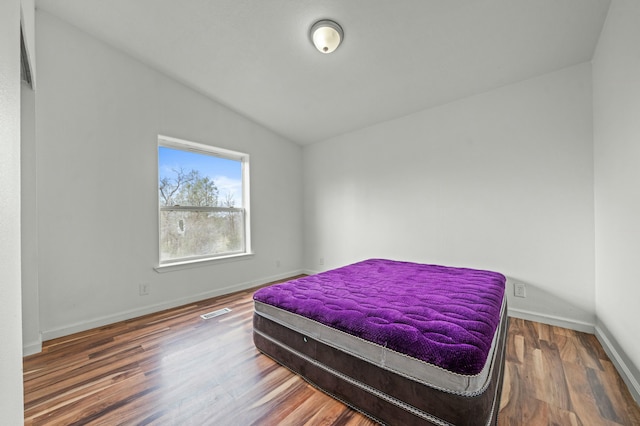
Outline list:
[[[589,61],[610,0],[37,0],[299,144]],[[308,38],[331,18],[344,43]]]

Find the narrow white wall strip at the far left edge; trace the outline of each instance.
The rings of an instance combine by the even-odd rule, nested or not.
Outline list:
[[[0,418],[22,415],[20,1],[0,2]]]

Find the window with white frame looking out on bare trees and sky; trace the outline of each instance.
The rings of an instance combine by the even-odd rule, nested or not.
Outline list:
[[[249,156],[158,138],[160,266],[251,253]]]

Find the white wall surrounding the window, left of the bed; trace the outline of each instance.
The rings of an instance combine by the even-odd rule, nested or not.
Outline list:
[[[298,145],[44,12],[36,14],[36,40],[45,340],[300,271]],[[255,256],[153,269],[158,134],[251,156]],[[149,296],[138,295],[140,283],[151,284]]]

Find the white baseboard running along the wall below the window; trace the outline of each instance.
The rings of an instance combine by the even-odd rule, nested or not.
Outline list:
[[[298,270],[289,271],[289,272],[278,274],[278,275],[273,275],[270,277],[265,277],[259,280],[238,283],[238,284],[230,285],[227,287],[206,291],[203,293],[190,295],[188,297],[182,297],[180,299],[174,299],[174,300],[169,300],[162,303],[157,303],[155,305],[148,305],[148,306],[144,306],[137,309],[131,309],[128,311],[119,312],[113,315],[106,315],[106,316],[94,318],[89,321],[82,321],[82,322],[70,324],[64,327],[45,330],[42,332],[42,340],[46,341],[46,340],[56,339],[58,337],[68,336],[69,334],[90,330],[92,328],[103,327],[105,325],[113,324],[119,321],[125,321],[131,318],[136,318],[136,317],[151,314],[154,312],[159,312],[164,309],[175,308],[177,306],[187,305],[189,303],[198,302],[200,300],[205,300],[205,299],[209,299],[216,296],[222,296],[225,294],[234,293],[236,291],[246,290],[246,289],[257,287],[273,281],[278,281],[278,280],[282,280],[295,275],[300,275],[302,273],[304,272],[301,269],[298,269]],[[40,352],[41,350],[42,350],[42,347],[40,347],[40,350],[38,350],[37,352]],[[32,353],[37,353],[37,352],[32,352]]]

